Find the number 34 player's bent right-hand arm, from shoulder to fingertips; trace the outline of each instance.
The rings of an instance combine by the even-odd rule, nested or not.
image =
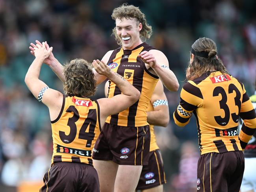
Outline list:
[[[138,101],[140,98],[140,91],[125,80],[123,76],[111,71],[110,67],[103,61],[100,62],[99,60],[94,60],[92,65],[97,73],[105,75],[110,81],[114,82],[122,92],[122,94],[112,98],[102,98],[97,100],[101,109],[101,120],[105,122],[105,119],[108,116],[117,114]]]

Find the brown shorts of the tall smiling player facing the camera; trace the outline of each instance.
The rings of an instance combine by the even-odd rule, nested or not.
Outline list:
[[[92,158],[112,160],[119,165],[147,165],[150,145],[149,126],[123,127],[105,123]]]

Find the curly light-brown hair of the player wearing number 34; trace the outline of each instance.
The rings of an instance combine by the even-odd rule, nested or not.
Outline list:
[[[74,59],[64,66],[64,93],[67,96],[90,97],[95,94],[96,80],[92,63],[84,59]]]

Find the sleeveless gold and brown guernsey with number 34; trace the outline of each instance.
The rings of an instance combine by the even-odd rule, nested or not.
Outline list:
[[[74,162],[92,165],[92,149],[101,131],[97,101],[64,96],[60,114],[51,121],[51,125],[52,164]]]

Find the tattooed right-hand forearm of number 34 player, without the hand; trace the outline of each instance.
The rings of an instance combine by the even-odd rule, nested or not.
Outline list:
[[[136,89],[134,86],[132,86],[123,76],[119,75],[118,73],[111,73],[111,75],[107,76],[107,78],[114,82],[116,86],[120,89],[120,91],[127,96],[139,98],[140,97],[140,91]]]

